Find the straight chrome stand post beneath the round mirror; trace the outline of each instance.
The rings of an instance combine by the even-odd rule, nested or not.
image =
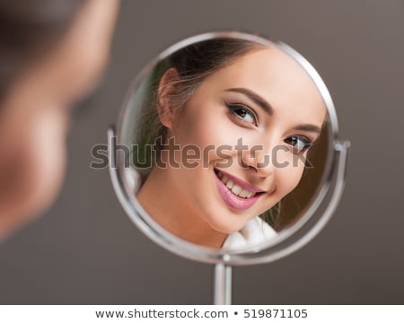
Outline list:
[[[214,277],[214,304],[232,304],[232,271],[230,265],[216,264]]]

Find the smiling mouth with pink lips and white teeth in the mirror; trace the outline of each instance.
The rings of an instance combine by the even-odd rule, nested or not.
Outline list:
[[[259,196],[265,193],[242,179],[237,179],[216,169],[215,179],[219,194],[224,199],[224,202],[239,211],[250,208],[258,201]]]

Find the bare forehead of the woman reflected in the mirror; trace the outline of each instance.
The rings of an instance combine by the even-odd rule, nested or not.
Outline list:
[[[219,92],[245,87],[277,110],[324,119],[326,106],[303,67],[278,48],[257,48],[206,77],[202,87]]]

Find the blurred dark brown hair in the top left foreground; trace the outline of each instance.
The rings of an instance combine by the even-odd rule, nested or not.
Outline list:
[[[55,46],[87,1],[0,2],[0,103],[22,71]]]

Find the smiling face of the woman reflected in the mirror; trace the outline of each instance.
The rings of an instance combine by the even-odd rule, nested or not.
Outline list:
[[[215,231],[238,231],[297,186],[325,117],[294,59],[277,48],[250,51],[207,76],[166,125],[175,144],[200,152],[198,166],[174,154],[181,165],[167,170],[171,185]]]

